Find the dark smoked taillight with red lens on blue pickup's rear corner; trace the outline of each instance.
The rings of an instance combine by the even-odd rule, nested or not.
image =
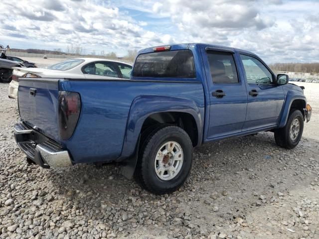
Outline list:
[[[59,92],[59,133],[62,140],[70,138],[81,112],[80,95],[76,92]]]

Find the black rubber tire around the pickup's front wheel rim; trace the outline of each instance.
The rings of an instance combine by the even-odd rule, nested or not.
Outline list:
[[[292,126],[292,123],[295,119],[299,120],[299,133],[297,135],[296,139],[292,139],[290,137],[290,129]],[[300,110],[292,110],[289,114],[287,123],[285,127],[279,128],[275,130],[275,142],[278,146],[283,148],[292,149],[296,147],[303,135],[304,131],[304,117]]]

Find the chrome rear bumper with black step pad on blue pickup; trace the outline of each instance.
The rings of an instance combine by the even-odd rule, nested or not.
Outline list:
[[[26,156],[43,168],[72,165],[67,150],[63,150],[59,143],[47,138],[23,122],[14,125],[14,138]]]

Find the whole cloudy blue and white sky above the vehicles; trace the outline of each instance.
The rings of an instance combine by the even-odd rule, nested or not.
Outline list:
[[[0,44],[86,53],[203,42],[319,61],[319,0],[1,0]]]

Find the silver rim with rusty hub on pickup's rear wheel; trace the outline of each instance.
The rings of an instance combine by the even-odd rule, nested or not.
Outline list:
[[[183,150],[179,143],[168,141],[162,144],[156,154],[154,169],[161,180],[171,180],[183,165]]]

